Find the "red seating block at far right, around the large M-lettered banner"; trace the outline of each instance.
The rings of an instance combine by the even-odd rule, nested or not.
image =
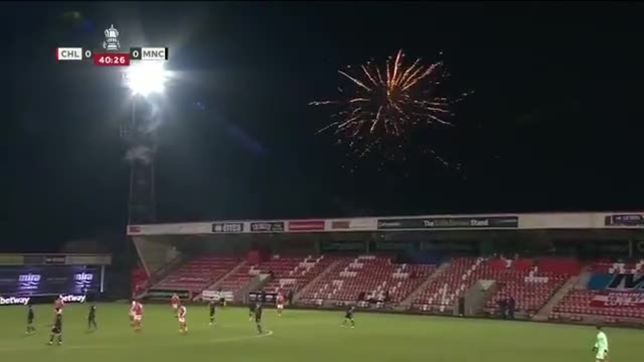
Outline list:
[[[597,262],[591,265],[589,271],[607,274],[640,274],[644,273],[644,260],[637,262]],[[599,307],[591,305],[591,301],[602,291],[586,289],[572,289],[554,307],[550,319],[581,320],[583,316],[601,316],[605,321],[612,318],[637,318],[644,319],[644,309],[634,306]]]

